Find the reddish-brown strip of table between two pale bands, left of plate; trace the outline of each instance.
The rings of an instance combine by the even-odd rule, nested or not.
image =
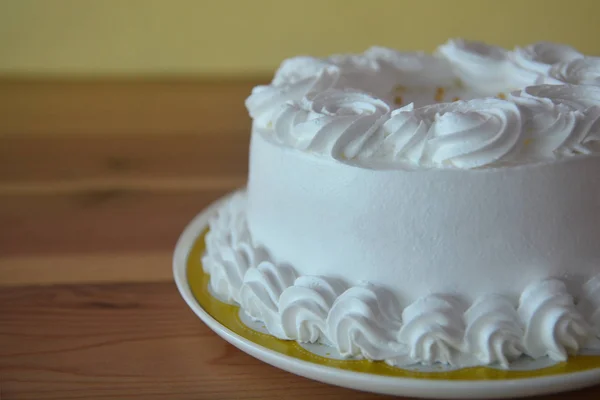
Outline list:
[[[187,223],[228,191],[0,196],[0,256],[170,251]]]

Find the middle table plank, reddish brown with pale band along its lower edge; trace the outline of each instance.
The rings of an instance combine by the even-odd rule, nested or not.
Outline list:
[[[0,195],[0,285],[171,280],[184,227],[232,189]]]

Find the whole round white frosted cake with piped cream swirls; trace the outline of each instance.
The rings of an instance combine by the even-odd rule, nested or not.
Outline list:
[[[202,263],[271,335],[398,367],[600,348],[600,58],[294,57],[246,106],[248,184]]]

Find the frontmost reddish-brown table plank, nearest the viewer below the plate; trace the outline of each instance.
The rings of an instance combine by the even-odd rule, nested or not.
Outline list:
[[[0,388],[2,400],[387,398],[255,360],[171,283],[0,288]]]

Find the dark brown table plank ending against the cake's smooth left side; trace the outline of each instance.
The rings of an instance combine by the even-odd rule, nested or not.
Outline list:
[[[2,124],[0,124],[2,125]],[[39,187],[236,185],[248,170],[249,128],[202,135],[0,136],[0,194]],[[33,189],[30,189],[33,190]]]

